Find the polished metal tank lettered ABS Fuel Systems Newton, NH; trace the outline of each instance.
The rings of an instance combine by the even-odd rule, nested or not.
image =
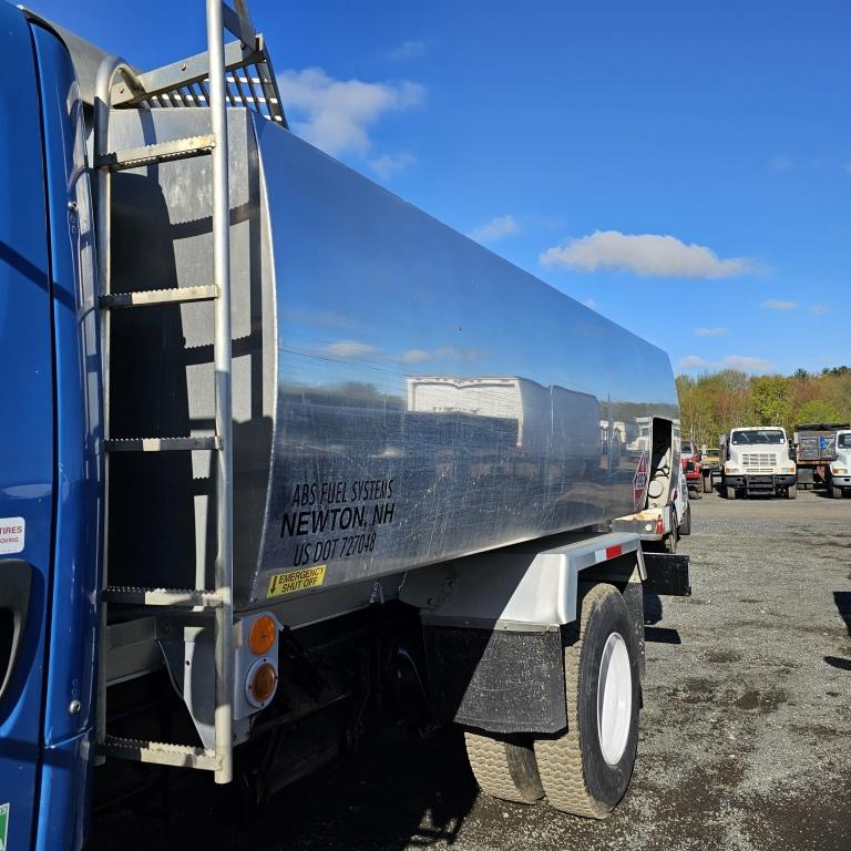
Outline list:
[[[116,112],[113,144],[206,121]],[[636,438],[677,416],[663,351],[287,131],[228,122],[237,607],[635,509]],[[208,281],[208,167],[116,175],[116,291]],[[113,432],[208,434],[212,308],[146,309],[113,319]],[[175,454],[113,457],[115,583],[209,582],[213,466]]]

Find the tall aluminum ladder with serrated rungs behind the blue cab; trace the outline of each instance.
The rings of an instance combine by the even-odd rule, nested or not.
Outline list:
[[[271,63],[248,18],[244,0],[235,11],[222,0],[206,0],[207,53],[139,73],[122,60],[104,60],[98,73],[94,115],[96,176],[96,250],[100,285],[103,357],[103,432],[105,505],[109,523],[110,455],[113,452],[208,450],[216,454],[216,558],[215,587],[174,589],[113,587],[109,584],[107,530],[101,597],[101,640],[98,689],[99,758],[117,757],[142,762],[183,766],[214,772],[217,783],[233,778],[233,406],[230,394],[230,258],[229,192],[227,172],[227,106],[248,105],[287,126]],[[236,41],[225,44],[225,30]],[[228,76],[229,74],[229,76]],[[206,82],[205,82],[206,81]],[[144,147],[113,151],[110,146],[110,112],[116,106],[208,106],[211,133]],[[213,173],[213,280],[208,285],[139,293],[112,291],[111,281],[111,175],[193,156],[212,157]],[[110,430],[111,311],[151,305],[213,300],[215,433],[213,437],[114,437]],[[114,604],[209,611],[215,615],[215,738],[213,748],[143,741],[109,735],[106,730],[106,642],[109,609]]]

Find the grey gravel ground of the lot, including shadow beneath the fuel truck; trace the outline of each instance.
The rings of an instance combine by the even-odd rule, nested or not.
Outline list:
[[[851,500],[707,494],[691,509],[694,596],[646,599],[638,762],[609,819],[489,799],[455,731],[391,731],[290,787],[248,832],[226,804],[201,808],[208,837],[189,847],[851,849]],[[101,839],[126,832],[94,847],[187,847],[155,812],[129,826],[99,824]]]

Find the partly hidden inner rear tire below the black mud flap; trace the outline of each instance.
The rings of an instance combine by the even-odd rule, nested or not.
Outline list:
[[[534,803],[544,797],[532,742],[515,744],[464,730],[466,758],[479,788],[494,798]]]

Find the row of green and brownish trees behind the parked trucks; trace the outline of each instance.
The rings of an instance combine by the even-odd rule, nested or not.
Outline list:
[[[693,378],[677,376],[683,435],[718,445],[736,426],[782,426],[791,434],[804,422],[851,422],[851,367],[791,376],[748,376],[734,369]]]

